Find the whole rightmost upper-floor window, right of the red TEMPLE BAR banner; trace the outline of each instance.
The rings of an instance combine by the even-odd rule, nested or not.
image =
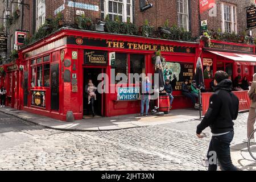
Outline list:
[[[222,32],[237,33],[237,7],[228,3],[221,4]]]

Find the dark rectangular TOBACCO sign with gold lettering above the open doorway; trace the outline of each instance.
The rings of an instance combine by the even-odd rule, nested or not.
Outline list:
[[[84,64],[107,65],[108,64],[108,52],[85,50],[84,51]]]

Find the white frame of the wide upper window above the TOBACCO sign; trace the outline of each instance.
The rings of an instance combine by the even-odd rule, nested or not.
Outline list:
[[[116,1],[117,0],[104,0],[104,11],[101,10],[101,13],[104,13],[104,18],[106,15],[109,14],[109,1]],[[119,2],[121,3],[121,2]],[[123,0],[122,2],[122,22],[127,22],[127,0]],[[114,13],[112,13],[114,14]],[[117,13],[118,15],[118,13]],[[130,22],[133,23],[133,0],[130,0]]]

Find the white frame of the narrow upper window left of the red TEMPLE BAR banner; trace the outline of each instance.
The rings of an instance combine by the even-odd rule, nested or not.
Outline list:
[[[186,28],[184,28],[184,30],[185,31],[189,31],[189,10],[188,10],[188,0],[177,0],[176,1],[177,2],[177,23],[178,23],[178,26],[180,27],[180,28],[184,28],[184,26],[186,26]],[[183,9],[183,12],[181,13],[180,12],[180,3],[182,2],[182,5],[183,5],[183,7],[182,7],[182,9]],[[187,7],[184,7],[184,2],[187,2]],[[185,14],[184,13],[184,9],[187,9],[187,14]],[[181,17],[182,17],[182,24],[180,23],[180,18],[179,18],[179,15],[181,15]],[[187,22],[186,22],[186,24],[184,24],[184,16],[186,17],[186,19],[187,19]]]

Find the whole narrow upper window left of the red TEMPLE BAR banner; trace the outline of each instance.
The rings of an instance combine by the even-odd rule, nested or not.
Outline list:
[[[177,0],[178,25],[189,31],[188,0]]]

